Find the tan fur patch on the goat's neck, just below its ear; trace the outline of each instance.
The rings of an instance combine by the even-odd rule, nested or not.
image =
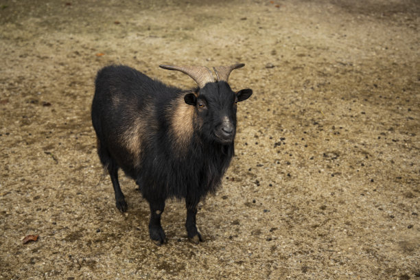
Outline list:
[[[181,96],[175,100],[173,108],[171,132],[174,136],[175,148],[182,154],[187,149],[193,134],[194,106],[186,104],[184,97]]]

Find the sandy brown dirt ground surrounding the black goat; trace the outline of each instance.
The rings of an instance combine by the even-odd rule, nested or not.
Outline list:
[[[2,0],[0,32],[1,279],[420,279],[419,1]],[[170,201],[155,246],[97,157],[95,73],[233,62],[254,95],[205,242]]]

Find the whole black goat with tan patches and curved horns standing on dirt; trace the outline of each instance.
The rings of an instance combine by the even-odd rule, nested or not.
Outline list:
[[[127,203],[118,170],[133,178],[150,205],[150,238],[165,242],[161,214],[167,198],[184,199],[189,239],[202,241],[196,227],[197,205],[220,186],[233,156],[237,102],[251,89],[233,92],[228,84],[233,69],[172,67],[186,73],[198,88],[182,90],[126,66],[108,66],[97,73],[92,123],[97,152],[108,170],[119,211]]]

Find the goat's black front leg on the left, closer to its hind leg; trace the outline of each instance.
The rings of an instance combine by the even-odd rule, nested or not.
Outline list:
[[[149,222],[149,233],[150,239],[156,244],[157,246],[161,246],[161,244],[166,242],[166,235],[165,231],[163,231],[161,226],[161,215],[163,213],[163,209],[165,209],[165,200],[152,200],[149,201],[150,205],[150,222]]]

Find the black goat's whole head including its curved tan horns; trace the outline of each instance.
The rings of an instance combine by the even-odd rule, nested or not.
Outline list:
[[[214,67],[217,80],[213,78],[210,69],[204,66],[168,66],[163,69],[181,71],[198,84],[198,91],[184,96],[186,104],[194,106],[199,132],[210,141],[222,144],[233,143],[236,133],[237,102],[248,99],[253,94],[251,89],[234,92],[228,84],[229,74],[234,69],[244,67],[236,64],[228,67]]]

